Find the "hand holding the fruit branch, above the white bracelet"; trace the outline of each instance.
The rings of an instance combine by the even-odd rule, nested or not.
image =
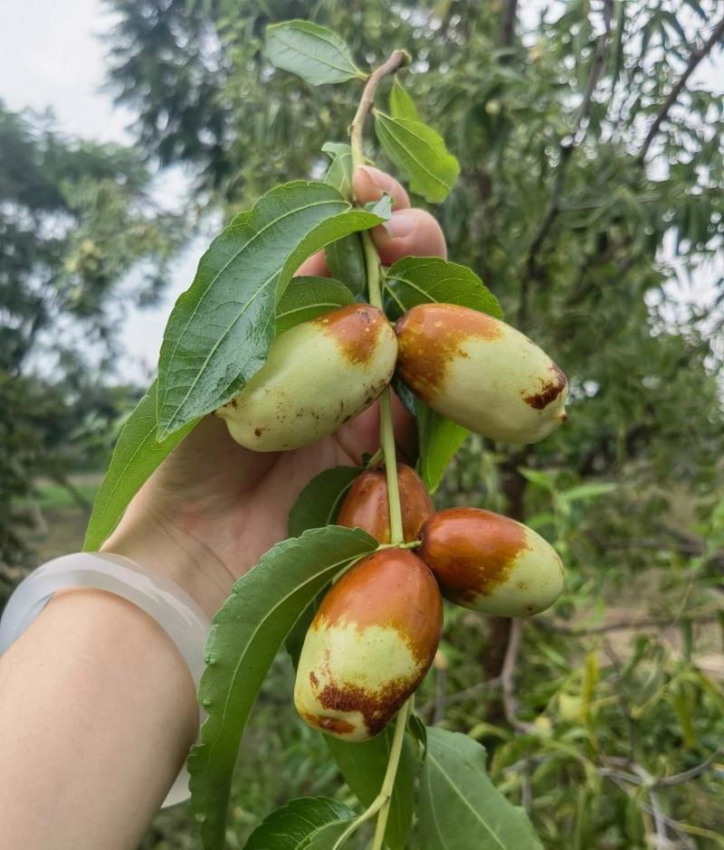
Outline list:
[[[383,263],[408,254],[446,256],[440,225],[430,213],[410,208],[405,189],[393,177],[363,166],[352,188],[360,203],[376,201],[383,192],[393,198],[392,218],[372,231]],[[327,273],[323,252],[297,273]],[[393,401],[395,440],[409,455],[413,423]],[[141,487],[101,548],[169,575],[211,616],[233,581],[287,536],[291,506],[310,479],[329,467],[358,465],[378,448],[376,403],[335,434],[288,452],[243,449],[223,420],[207,416]]]

